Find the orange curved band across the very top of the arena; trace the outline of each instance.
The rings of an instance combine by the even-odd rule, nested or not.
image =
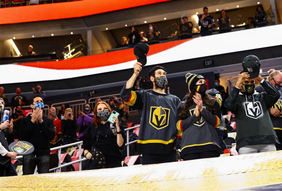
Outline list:
[[[0,24],[76,18],[171,0],[82,0],[65,3],[1,8]],[[31,16],[32,15],[32,16]]]

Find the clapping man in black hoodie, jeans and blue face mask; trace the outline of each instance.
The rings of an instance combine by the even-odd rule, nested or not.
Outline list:
[[[23,175],[33,174],[37,166],[38,173],[49,172],[50,140],[55,137],[53,120],[43,113],[43,108],[35,109],[37,103],[43,104],[43,99],[35,94],[30,107],[32,115],[21,121],[20,140],[28,141],[34,146],[32,154],[23,156]]]

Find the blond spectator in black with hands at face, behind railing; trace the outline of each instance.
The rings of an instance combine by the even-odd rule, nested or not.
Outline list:
[[[71,108],[65,109],[65,114],[61,122],[61,125],[62,128],[64,129],[62,144],[66,145],[66,144],[77,142],[77,135],[76,135],[77,124],[75,122]]]

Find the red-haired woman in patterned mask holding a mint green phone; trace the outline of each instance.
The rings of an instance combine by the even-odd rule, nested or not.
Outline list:
[[[112,110],[106,102],[99,102],[94,108],[92,124],[84,133],[84,156],[89,159],[89,170],[98,168],[121,167],[121,152],[126,137],[124,128],[117,117],[112,117],[113,125],[108,120]],[[114,127],[111,129],[111,127]]]

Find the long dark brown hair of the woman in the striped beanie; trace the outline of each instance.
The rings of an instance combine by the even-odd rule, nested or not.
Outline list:
[[[178,115],[178,118],[180,120],[184,120],[184,119],[187,118],[188,108],[190,107],[190,105],[192,105],[194,103],[194,101],[192,99],[194,95],[195,95],[195,89],[193,89],[190,93],[187,94],[186,102],[183,105],[182,111]],[[215,110],[215,106],[212,103],[210,95],[207,94],[207,93],[202,95],[202,101],[203,101],[203,104],[208,106],[209,111],[212,112],[212,114],[215,115],[216,114],[216,110]]]

